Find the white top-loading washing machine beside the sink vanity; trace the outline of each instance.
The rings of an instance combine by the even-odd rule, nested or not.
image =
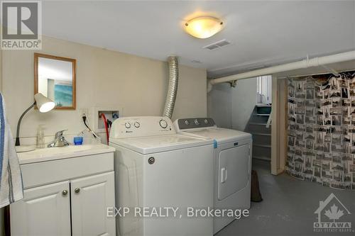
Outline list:
[[[177,134],[169,118],[128,117],[114,121],[109,145],[116,208],[179,208],[177,217],[118,216],[119,235],[213,235],[212,218],[187,218],[188,207],[213,207],[213,140]]]

